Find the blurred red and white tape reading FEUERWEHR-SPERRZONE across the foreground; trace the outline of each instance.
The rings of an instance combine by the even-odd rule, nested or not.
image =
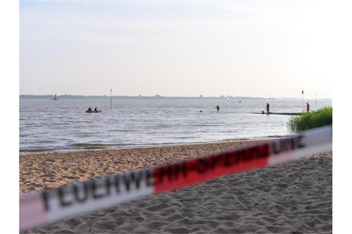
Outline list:
[[[332,126],[203,158],[20,196],[20,229],[332,148]]]

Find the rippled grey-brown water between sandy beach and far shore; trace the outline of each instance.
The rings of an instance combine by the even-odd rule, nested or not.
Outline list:
[[[261,115],[267,101],[20,99],[20,152],[152,146],[288,134],[288,115]],[[301,101],[268,101],[271,112],[301,112]],[[216,113],[216,105],[220,113]],[[98,107],[102,113],[85,113]],[[311,108],[332,106],[315,100]],[[203,112],[200,113],[199,111]]]

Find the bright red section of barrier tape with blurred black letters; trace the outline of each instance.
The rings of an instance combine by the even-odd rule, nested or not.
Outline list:
[[[270,146],[265,143],[206,158],[157,167],[154,169],[154,192],[163,192],[220,175],[266,166],[269,154]]]

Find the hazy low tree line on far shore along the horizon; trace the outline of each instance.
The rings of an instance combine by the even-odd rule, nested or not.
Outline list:
[[[56,96],[58,99],[88,99],[88,98],[97,98],[97,99],[109,99],[110,96],[107,95],[57,95]],[[234,100],[275,100],[275,98],[253,98],[253,97],[244,97],[244,96],[224,96],[221,95],[219,97],[205,97],[203,95],[200,95],[199,97],[168,97],[168,96],[161,96],[156,94],[155,96],[112,96],[114,99],[189,99],[189,100],[199,100],[199,99],[204,99],[204,100],[212,100],[212,99],[227,99],[229,97],[230,99]],[[52,99],[54,98],[54,95],[52,94],[46,94],[46,95],[27,95],[27,94],[21,94],[20,98],[45,98],[45,99]]]

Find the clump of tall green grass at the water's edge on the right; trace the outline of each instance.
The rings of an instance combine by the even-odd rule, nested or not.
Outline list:
[[[300,132],[311,128],[332,124],[332,107],[323,107],[317,111],[291,116],[287,122],[290,131]]]

